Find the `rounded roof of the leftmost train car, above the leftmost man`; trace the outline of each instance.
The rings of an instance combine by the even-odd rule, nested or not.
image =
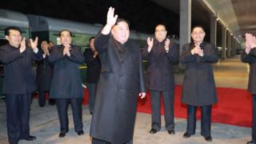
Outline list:
[[[0,9],[0,26],[18,26],[29,28],[29,21],[25,14]]]

